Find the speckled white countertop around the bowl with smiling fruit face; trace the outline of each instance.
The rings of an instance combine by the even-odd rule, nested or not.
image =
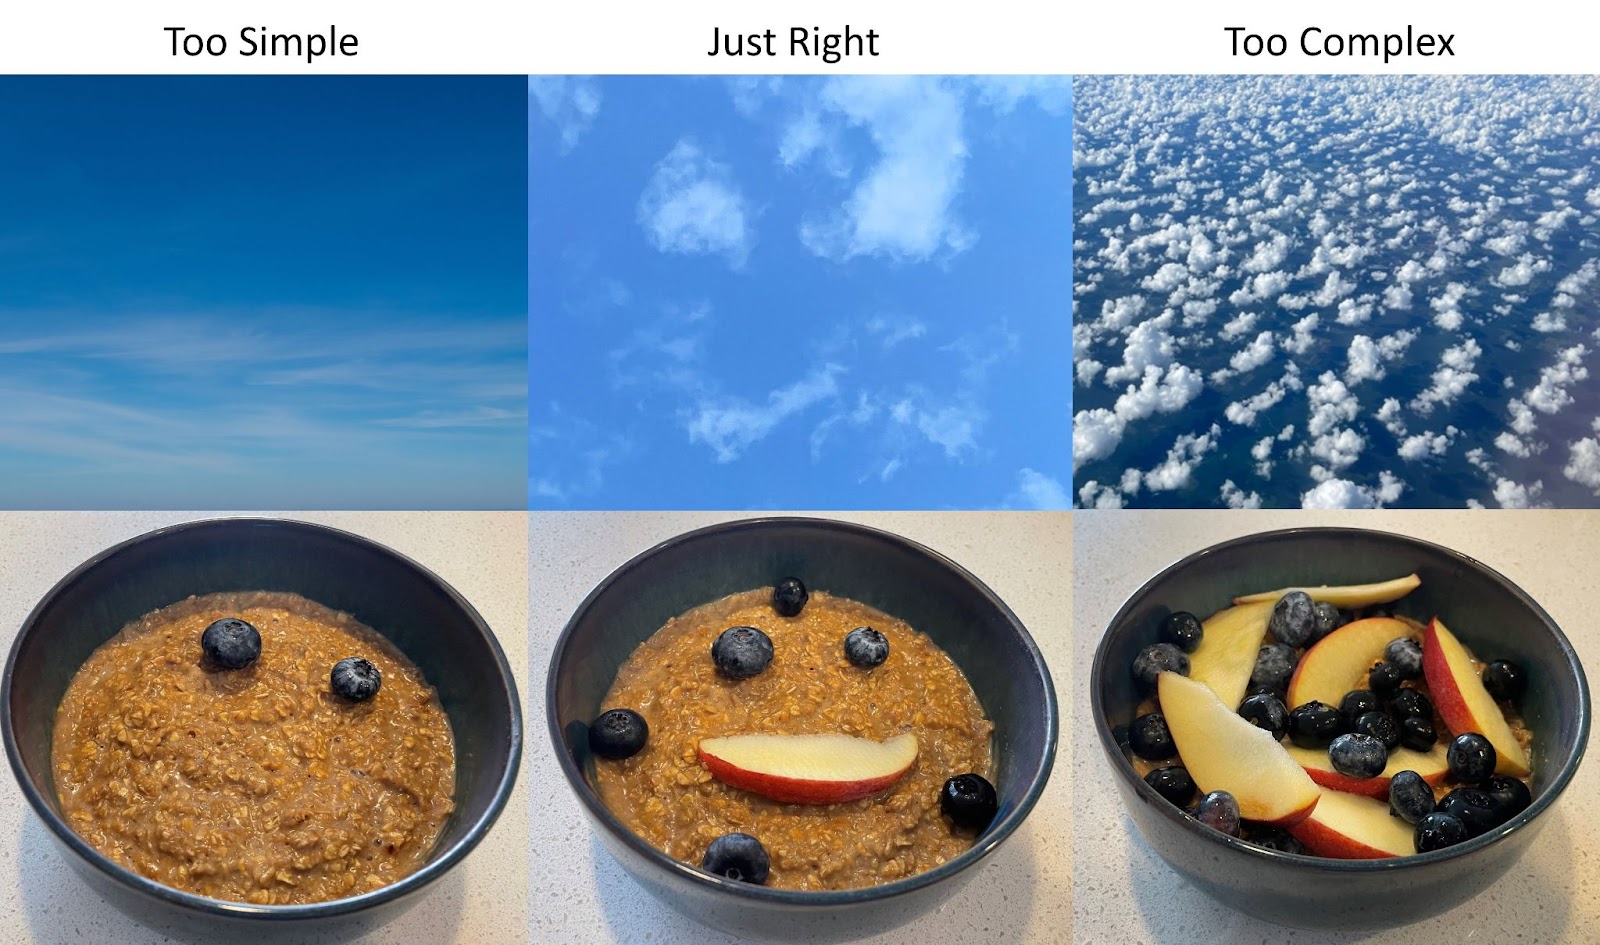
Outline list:
[[[744,515],[534,513],[530,518],[533,662],[542,688],[550,646],[584,595],[614,568],[659,540]],[[1003,598],[1038,643],[1066,710],[1070,521],[1067,513],[859,513],[838,515],[918,540],[976,574]],[[538,945],[651,942],[725,945],[734,939],[699,926],[640,889],[590,836],[562,779],[542,720],[544,692],[528,697],[528,764],[541,811],[530,835],[531,940]],[[538,710],[538,712],[534,712]],[[938,911],[872,942],[973,945],[1072,940],[1070,750],[1062,721],[1056,774],[1022,827]]]

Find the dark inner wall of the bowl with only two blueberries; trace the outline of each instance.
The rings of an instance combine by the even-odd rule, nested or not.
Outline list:
[[[456,811],[430,865],[464,855],[504,806],[522,747],[515,683],[499,644],[477,611],[422,566],[347,532],[277,520],[141,536],[85,563],[29,616],[8,664],[6,737],[46,823],[107,871],[131,876],[59,820],[50,764],[56,707],[83,660],[130,620],[190,595],[237,590],[294,592],[346,611],[422,670],[456,742]]]

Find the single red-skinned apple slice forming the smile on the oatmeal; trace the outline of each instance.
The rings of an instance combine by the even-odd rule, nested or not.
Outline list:
[[[784,804],[838,804],[890,788],[917,761],[917,736],[886,742],[851,736],[701,739],[717,780]]]

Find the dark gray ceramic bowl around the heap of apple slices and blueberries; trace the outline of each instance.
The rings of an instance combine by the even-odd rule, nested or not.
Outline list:
[[[1485,659],[1528,672],[1522,712],[1533,732],[1533,806],[1469,843],[1390,860],[1280,854],[1224,836],[1160,798],[1117,747],[1112,726],[1133,720],[1130,665],[1155,643],[1170,611],[1202,617],[1234,595],[1310,584],[1366,584],[1416,571],[1422,587],[1400,616],[1435,614]],[[1589,686],[1578,654],[1550,616],[1488,566],[1438,545],[1376,531],[1304,528],[1213,545],[1162,571],[1112,617],[1094,654],[1091,699],[1106,760],[1146,841],[1218,900],[1302,929],[1384,929],[1450,910],[1517,862],[1544,823],[1539,815],[1571,780],[1589,740]]]

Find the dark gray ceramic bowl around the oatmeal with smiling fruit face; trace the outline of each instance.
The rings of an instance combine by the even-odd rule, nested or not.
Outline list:
[[[592,787],[586,726],[600,713],[600,699],[629,654],[669,617],[789,576],[906,620],[966,675],[995,724],[1000,795],[1000,812],[973,849],[936,870],[869,889],[768,889],[674,860],[634,835],[600,801]],[[1027,630],[994,592],[915,542],[816,518],[715,524],[622,564],[589,593],[562,632],[547,694],[562,771],[616,860],[669,907],[750,939],[853,939],[936,907],[1034,807],[1056,752],[1050,672]]]

